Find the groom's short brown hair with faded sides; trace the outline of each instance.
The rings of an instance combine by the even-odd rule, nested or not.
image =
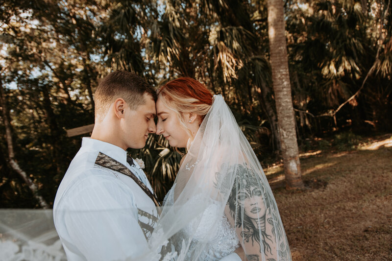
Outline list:
[[[114,71],[106,75],[95,92],[95,118],[103,120],[110,105],[123,98],[132,110],[145,104],[143,95],[147,93],[156,100],[156,92],[142,77],[129,71]]]

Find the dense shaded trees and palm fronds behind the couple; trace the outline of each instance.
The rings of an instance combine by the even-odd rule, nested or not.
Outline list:
[[[300,149],[392,131],[391,8],[390,0],[284,1]],[[88,136],[67,130],[94,123],[95,88],[116,70],[155,87],[196,78],[224,96],[263,167],[280,159],[267,1],[3,0],[0,10],[1,208],[40,208],[31,186],[52,206]],[[162,199],[180,154],[155,135],[130,153]]]

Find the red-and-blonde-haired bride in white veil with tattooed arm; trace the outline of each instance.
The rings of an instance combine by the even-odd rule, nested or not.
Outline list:
[[[156,111],[156,134],[188,151],[150,241],[165,242],[161,260],[234,261],[238,247],[242,260],[291,260],[266,176],[223,97],[178,78],[158,89]]]

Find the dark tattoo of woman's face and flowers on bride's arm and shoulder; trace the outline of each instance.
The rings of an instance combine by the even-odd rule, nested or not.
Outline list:
[[[225,176],[235,177],[234,183],[231,182],[232,185],[228,184],[230,183],[228,180],[221,184],[226,183],[222,186],[226,191],[229,186],[232,186],[227,206],[237,228],[236,231],[242,231],[240,236],[245,244],[243,245],[245,253],[247,244],[250,244],[252,249],[254,245],[260,246],[258,250],[260,254],[249,253],[246,255],[247,259],[259,261],[260,255],[264,254],[268,261],[275,261],[276,255],[279,260],[291,260],[289,245],[275,200],[266,189],[260,174],[248,168],[246,164],[222,165],[221,170],[225,173],[216,173],[217,180],[225,179]],[[277,248],[279,248],[278,254],[273,251]]]

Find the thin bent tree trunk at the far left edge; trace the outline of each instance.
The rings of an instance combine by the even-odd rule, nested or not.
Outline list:
[[[27,173],[19,166],[18,162],[15,160],[15,153],[14,153],[14,145],[12,142],[12,130],[11,130],[11,123],[8,118],[8,109],[7,104],[3,94],[3,87],[0,81],[0,106],[1,111],[3,114],[3,121],[5,127],[5,138],[7,140],[7,148],[8,148],[8,163],[9,165],[23,178],[27,186],[33,192],[34,197],[38,200],[39,204],[42,208],[48,209],[49,205],[45,201],[45,199],[38,194],[37,186],[30,180]]]

